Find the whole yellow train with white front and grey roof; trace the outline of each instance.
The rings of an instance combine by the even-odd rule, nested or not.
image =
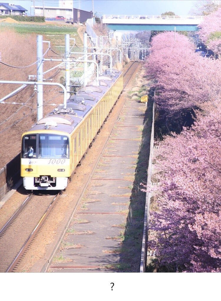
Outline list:
[[[123,90],[117,70],[99,76],[22,135],[21,177],[27,190],[62,190],[68,184]]]

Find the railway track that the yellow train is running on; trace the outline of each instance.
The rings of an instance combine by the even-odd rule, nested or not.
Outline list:
[[[128,83],[139,62],[132,62],[123,73],[124,85]],[[0,230],[0,272],[15,272],[27,253],[36,234],[56,206],[56,195],[31,193]]]

